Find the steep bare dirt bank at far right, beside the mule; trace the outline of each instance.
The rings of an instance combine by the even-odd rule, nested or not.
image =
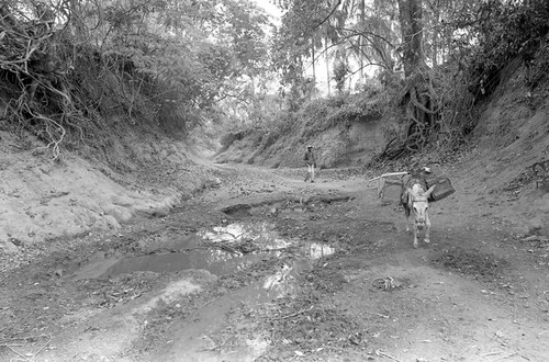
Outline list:
[[[458,177],[518,233],[547,237],[549,189],[537,188],[530,166],[549,160],[549,101],[546,90],[524,87],[524,77],[517,71],[481,113],[471,139],[477,146]]]

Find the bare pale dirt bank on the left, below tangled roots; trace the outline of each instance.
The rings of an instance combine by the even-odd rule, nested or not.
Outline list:
[[[173,142],[128,138],[108,163],[68,150],[52,161],[38,142],[5,132],[0,138],[0,249],[15,256],[19,247],[117,229],[138,214],[166,216],[217,182]]]

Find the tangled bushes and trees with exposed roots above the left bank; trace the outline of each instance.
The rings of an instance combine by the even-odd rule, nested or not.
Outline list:
[[[59,146],[121,124],[188,134],[266,64],[248,0],[2,0],[2,127]]]

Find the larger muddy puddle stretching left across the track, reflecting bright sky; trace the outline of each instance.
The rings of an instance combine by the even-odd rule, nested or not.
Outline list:
[[[281,238],[269,223],[237,223],[200,230],[176,241],[177,252],[152,253],[127,258],[100,259],[81,268],[74,280],[112,276],[136,271],[157,273],[191,269],[208,270],[217,276],[246,269],[266,253],[292,250],[302,260],[329,256],[333,246]]]

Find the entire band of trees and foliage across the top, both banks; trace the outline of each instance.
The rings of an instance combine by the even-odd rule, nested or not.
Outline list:
[[[0,125],[57,158],[121,125],[274,139],[307,112],[314,129],[393,112],[397,158],[459,145],[522,64],[547,77],[545,0],[271,2],[277,25],[251,0],[1,0]]]

